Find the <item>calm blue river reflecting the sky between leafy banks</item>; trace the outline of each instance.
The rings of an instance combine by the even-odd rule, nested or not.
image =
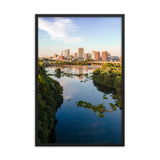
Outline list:
[[[96,67],[64,67],[65,73],[92,75]],[[46,68],[53,74],[56,68]],[[115,103],[112,91],[93,83],[91,78],[84,75],[78,77],[51,76],[63,86],[63,104],[56,112],[54,138],[51,135],[50,143],[58,144],[121,144],[122,142],[122,111],[116,106],[116,111],[105,112],[103,117],[98,116],[89,108],[77,106],[78,101],[86,101],[92,105],[104,104],[111,110],[109,103]],[[104,99],[103,96],[108,99]],[[53,142],[54,139],[54,142]]]

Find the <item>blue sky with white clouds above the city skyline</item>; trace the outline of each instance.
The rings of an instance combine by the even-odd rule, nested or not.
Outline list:
[[[119,17],[43,17],[38,19],[39,56],[61,54],[70,49],[71,54],[83,47],[108,51],[121,56],[121,18]]]

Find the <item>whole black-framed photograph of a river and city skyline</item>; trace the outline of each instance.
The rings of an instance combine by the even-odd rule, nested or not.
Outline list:
[[[124,14],[35,15],[35,145],[124,146]]]

